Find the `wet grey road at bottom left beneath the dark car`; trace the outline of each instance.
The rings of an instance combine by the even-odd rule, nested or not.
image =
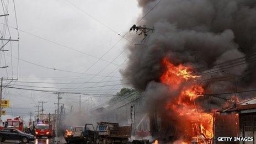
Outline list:
[[[1,142],[1,144],[14,144],[14,143],[20,143],[19,141],[5,141]],[[62,144],[66,143],[65,139],[63,137],[55,137],[55,138],[40,138],[36,139],[34,142],[29,142],[29,144]]]

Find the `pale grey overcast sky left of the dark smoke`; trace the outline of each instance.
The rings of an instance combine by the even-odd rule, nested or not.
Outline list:
[[[131,41],[130,33],[124,39],[122,36],[141,16],[136,0],[1,2],[4,7],[0,8],[0,15],[7,13],[6,8],[9,14],[0,17],[1,35],[19,38],[19,42],[4,46],[8,51],[1,51],[0,61],[0,67],[8,66],[0,68],[1,76],[18,81],[3,81],[3,85],[10,82],[9,87],[86,93],[90,97],[81,95],[81,102],[87,109],[104,105],[111,94],[129,87],[119,70],[126,65],[124,49]],[[94,97],[95,94],[104,98]],[[79,95],[61,94],[67,111],[72,105],[78,106]],[[56,109],[55,93],[4,87],[2,97],[10,100],[3,120],[13,116],[28,120],[29,111],[34,113],[40,101],[46,102],[44,113],[54,113]]]

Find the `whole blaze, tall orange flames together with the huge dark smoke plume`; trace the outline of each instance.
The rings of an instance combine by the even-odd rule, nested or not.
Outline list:
[[[122,75],[145,98],[159,142],[214,138],[217,109],[240,99],[255,81],[256,2],[252,0],[138,0],[141,25],[154,27],[130,47]],[[241,97],[243,95],[243,97]],[[225,118],[223,118],[225,119]]]

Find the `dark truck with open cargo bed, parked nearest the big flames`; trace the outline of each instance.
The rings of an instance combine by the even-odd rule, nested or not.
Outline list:
[[[95,140],[97,144],[128,143],[131,126],[119,126],[115,122],[97,122]]]

